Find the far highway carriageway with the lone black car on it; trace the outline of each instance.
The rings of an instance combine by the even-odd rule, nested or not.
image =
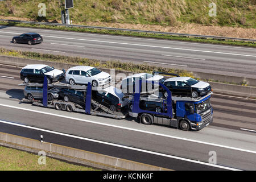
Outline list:
[[[44,42],[28,46],[11,38],[38,32]],[[162,65],[188,71],[256,78],[256,49],[206,43],[0,26],[0,47],[23,51]]]

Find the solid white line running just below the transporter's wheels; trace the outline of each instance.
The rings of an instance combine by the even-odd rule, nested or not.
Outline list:
[[[249,152],[249,153],[252,153],[252,154],[256,154],[256,151],[246,150],[246,149],[237,148],[237,147],[224,146],[224,145],[222,145],[222,144],[216,144],[216,143],[210,143],[210,142],[203,142],[203,141],[200,141],[200,140],[188,139],[188,138],[183,138],[183,137],[175,137],[175,136],[172,136],[172,135],[154,133],[154,132],[151,132],[151,131],[144,131],[144,130],[138,130],[138,129],[132,129],[132,128],[130,128],[130,127],[123,127],[123,126],[118,126],[118,125],[112,125],[112,124],[107,124],[107,123],[101,123],[101,122],[96,122],[96,121],[90,121],[90,120],[87,120],[87,119],[73,118],[73,117],[68,117],[68,116],[65,116],[65,115],[53,114],[53,113],[48,113],[48,112],[38,111],[38,110],[31,110],[31,109],[26,109],[26,108],[16,107],[16,106],[10,106],[10,105],[5,105],[5,104],[0,104],[0,106],[9,107],[9,108],[13,108],[13,109],[20,109],[20,110],[31,111],[31,112],[34,112],[34,113],[53,115],[53,116],[61,117],[61,118],[74,119],[74,120],[77,120],[77,121],[84,121],[84,122],[88,122],[88,123],[94,123],[94,124],[97,124],[97,125],[104,125],[104,126],[116,127],[116,128],[119,128],[119,129],[125,129],[125,130],[130,130],[130,131],[138,131],[138,132],[141,132],[141,133],[152,134],[152,135],[158,135],[158,136],[161,136],[161,137],[168,137],[168,138],[180,139],[180,140],[185,140],[185,141],[195,142],[195,143],[200,143],[200,144],[208,144],[208,145],[210,145],[210,146],[228,148],[228,149],[231,149],[231,150],[237,150],[237,151],[243,151],[243,152]]]

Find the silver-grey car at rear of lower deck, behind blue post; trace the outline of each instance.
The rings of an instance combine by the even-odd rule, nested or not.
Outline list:
[[[59,98],[59,89],[52,88],[48,90],[48,101],[55,100]],[[39,86],[26,86],[24,88],[24,96],[28,100],[32,101],[34,98],[43,98],[43,88]]]

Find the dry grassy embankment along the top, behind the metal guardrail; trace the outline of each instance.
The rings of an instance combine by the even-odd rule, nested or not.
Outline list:
[[[61,19],[59,0],[6,0],[0,15],[40,20],[39,3],[45,3],[49,21]],[[209,4],[216,3],[217,16],[210,17]],[[117,22],[134,24],[181,23],[256,28],[255,0],[76,0],[70,9],[73,22]]]

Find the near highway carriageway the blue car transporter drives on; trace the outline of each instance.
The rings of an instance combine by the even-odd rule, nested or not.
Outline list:
[[[118,120],[19,104],[20,69],[0,64],[1,132],[34,139],[43,134],[47,142],[175,170],[256,169],[255,100],[213,94],[213,123],[200,131],[181,131],[142,125],[129,117]],[[217,166],[208,163],[210,151],[217,154]]]

